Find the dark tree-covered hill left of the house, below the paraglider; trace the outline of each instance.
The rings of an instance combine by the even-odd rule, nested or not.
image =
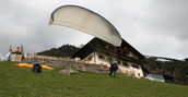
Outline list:
[[[37,54],[52,56],[52,57],[71,57],[80,48],[72,45],[62,45],[59,48],[52,48],[50,50],[38,52]]]

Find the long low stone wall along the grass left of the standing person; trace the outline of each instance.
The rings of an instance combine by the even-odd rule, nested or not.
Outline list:
[[[40,62],[42,64],[46,64],[50,66],[80,70],[80,71],[94,72],[94,73],[108,73],[109,72],[108,71],[109,68],[107,68],[106,65],[82,63],[82,62],[75,62],[71,60],[69,61],[69,60],[25,58],[23,62],[25,63]]]

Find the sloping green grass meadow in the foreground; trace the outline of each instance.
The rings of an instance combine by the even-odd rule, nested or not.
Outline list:
[[[188,86],[101,73],[64,75],[60,70],[33,73],[0,62],[0,97],[188,97]]]

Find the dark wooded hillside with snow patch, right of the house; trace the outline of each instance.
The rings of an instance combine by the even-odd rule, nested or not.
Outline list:
[[[188,85],[188,61],[162,57],[149,57],[142,65],[144,72],[163,74],[171,83]]]

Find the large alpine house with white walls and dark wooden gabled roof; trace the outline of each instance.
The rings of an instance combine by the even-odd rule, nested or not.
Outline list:
[[[72,58],[80,58],[87,63],[110,66],[111,61],[118,61],[119,71],[133,77],[143,77],[142,59],[144,57],[122,39],[120,47],[115,47],[98,38],[93,38]]]

